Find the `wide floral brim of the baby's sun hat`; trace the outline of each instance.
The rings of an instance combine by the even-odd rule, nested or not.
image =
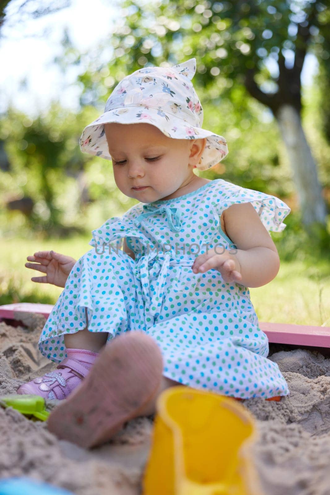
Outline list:
[[[157,127],[169,138],[189,140],[206,138],[207,143],[203,156],[197,165],[199,170],[213,167],[228,154],[227,142],[222,136],[192,126],[188,121],[158,108],[136,105],[109,110],[86,126],[80,138],[80,148],[85,153],[111,160],[104,124],[137,124],[141,122]]]

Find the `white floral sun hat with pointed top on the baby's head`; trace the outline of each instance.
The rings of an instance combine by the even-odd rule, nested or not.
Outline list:
[[[190,58],[173,67],[144,67],[124,77],[107,99],[104,113],[85,127],[81,150],[111,160],[103,124],[145,122],[169,138],[206,138],[199,170],[219,163],[228,154],[227,142],[201,128],[203,109],[191,83],[195,72],[196,59]]]

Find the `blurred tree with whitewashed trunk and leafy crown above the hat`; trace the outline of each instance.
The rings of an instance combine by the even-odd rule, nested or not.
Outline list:
[[[329,17],[319,0],[126,0],[109,40],[111,63],[80,77],[82,102],[99,100],[100,83],[113,88],[141,66],[171,65],[195,56],[194,82],[205,89],[202,101],[217,105],[234,96],[239,105],[236,94],[243,87],[271,109],[287,150],[302,221],[323,236],[327,211],[301,125],[300,76],[307,51],[322,61],[329,58]]]

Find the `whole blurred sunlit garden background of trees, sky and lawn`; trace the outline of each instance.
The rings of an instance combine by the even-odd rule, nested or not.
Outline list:
[[[103,112],[125,75],[194,56],[203,127],[225,136],[230,150],[223,162],[199,175],[275,195],[291,207],[286,229],[272,233],[282,260],[279,275],[251,290],[260,320],[329,325],[330,14],[325,4],[2,3],[0,303],[55,302],[60,289],[30,282],[36,274],[24,267],[26,256],[52,248],[78,258],[89,249],[93,229],[135,203],[116,189],[110,161],[81,153],[81,132]],[[297,109],[290,93],[294,86],[302,101],[297,115],[306,164],[293,163],[297,158],[283,133],[288,122],[280,118],[284,103]],[[275,110],[268,102],[276,94]],[[299,175],[307,166],[311,179],[302,191]]]

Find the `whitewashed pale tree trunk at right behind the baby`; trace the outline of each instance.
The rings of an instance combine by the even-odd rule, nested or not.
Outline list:
[[[326,226],[326,204],[299,112],[293,106],[285,104],[276,112],[276,118],[293,172],[302,222],[306,227],[314,222]]]

